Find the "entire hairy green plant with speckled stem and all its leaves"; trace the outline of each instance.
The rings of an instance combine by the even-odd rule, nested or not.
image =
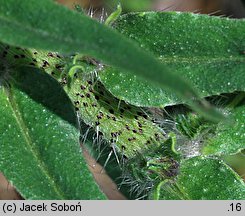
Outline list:
[[[179,12],[104,21],[0,0],[0,171],[25,199],[244,199],[245,20]]]

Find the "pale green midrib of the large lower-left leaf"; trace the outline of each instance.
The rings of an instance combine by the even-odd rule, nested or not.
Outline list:
[[[52,176],[49,174],[49,170],[47,169],[47,167],[42,163],[38,152],[36,151],[35,148],[33,148],[32,146],[32,138],[30,136],[29,133],[29,129],[26,126],[21,113],[19,112],[19,108],[18,108],[18,104],[15,101],[14,95],[11,93],[10,89],[4,89],[5,90],[5,94],[7,96],[7,102],[9,103],[10,108],[12,109],[13,112],[13,116],[16,119],[17,125],[20,128],[20,131],[26,141],[26,146],[30,149],[30,151],[32,152],[32,155],[34,156],[34,158],[36,159],[37,163],[38,163],[38,167],[40,168],[41,172],[47,177],[47,179],[49,179],[50,184],[53,185],[54,191],[56,192],[56,194],[61,198],[61,199],[65,199],[65,196],[62,192],[62,190],[59,188],[59,186],[57,186],[52,178]]]

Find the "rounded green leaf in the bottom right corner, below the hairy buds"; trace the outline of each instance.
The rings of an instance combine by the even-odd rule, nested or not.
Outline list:
[[[163,184],[158,195],[160,199],[241,200],[245,184],[222,161],[196,157],[183,161],[176,183]]]

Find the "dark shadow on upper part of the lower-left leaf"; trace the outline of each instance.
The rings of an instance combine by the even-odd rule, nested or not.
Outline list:
[[[31,66],[18,67],[11,73],[11,85],[76,128],[74,106],[59,82],[44,71]]]

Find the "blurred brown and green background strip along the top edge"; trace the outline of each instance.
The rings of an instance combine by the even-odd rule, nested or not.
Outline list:
[[[118,0],[57,0],[72,8],[75,4],[99,10],[105,6],[113,8]],[[244,0],[243,0],[244,1]],[[148,10],[191,11],[204,14],[245,17],[241,0],[121,0],[125,12]]]

